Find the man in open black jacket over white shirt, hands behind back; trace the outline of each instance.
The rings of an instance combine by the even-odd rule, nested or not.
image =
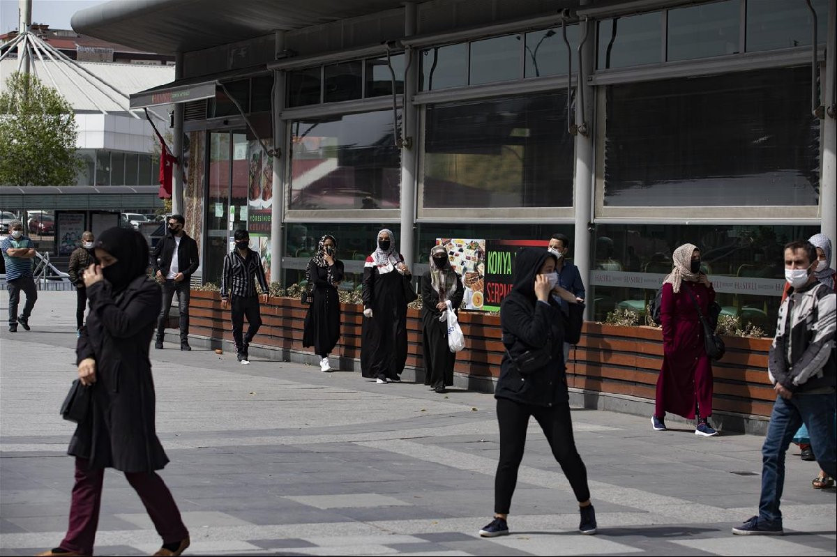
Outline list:
[[[198,243],[183,232],[185,222],[182,215],[168,217],[168,233],[151,250],[149,258],[162,285],[162,309],[157,318],[157,342],[154,343],[157,350],[162,349],[168,310],[176,292],[180,304],[180,350],[192,350],[189,346],[189,278],[198,269]]]

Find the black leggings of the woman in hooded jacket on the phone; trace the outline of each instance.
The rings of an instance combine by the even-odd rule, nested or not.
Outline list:
[[[523,459],[530,416],[535,416],[547,436],[552,454],[561,465],[578,502],[583,503],[590,498],[587,468],[584,468],[584,462],[578,456],[573,440],[570,407],[567,404],[552,407],[533,406],[498,398],[500,462],[497,464],[497,475],[494,479],[494,512],[497,514],[508,514],[511,508],[511,496],[515,493],[517,468],[520,468]]]

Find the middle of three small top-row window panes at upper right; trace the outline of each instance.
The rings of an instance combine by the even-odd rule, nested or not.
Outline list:
[[[739,51],[741,3],[728,0],[669,10],[669,60],[735,54]]]

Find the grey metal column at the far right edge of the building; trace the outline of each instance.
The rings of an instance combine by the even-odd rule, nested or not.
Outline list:
[[[829,34],[825,49],[824,99],[834,99],[835,72],[837,72],[837,0],[829,2]],[[830,90],[829,90],[830,89]],[[823,171],[819,177],[819,203],[822,216],[820,231],[837,242],[837,125],[834,123],[834,110],[824,120],[823,130]],[[834,264],[834,262],[832,262]]]

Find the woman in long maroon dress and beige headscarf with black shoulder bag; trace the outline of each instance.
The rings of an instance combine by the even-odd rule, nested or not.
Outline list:
[[[715,290],[701,273],[701,250],[686,243],[675,249],[674,268],[663,281],[663,367],[657,378],[657,401],[651,425],[665,431],[665,412],[697,417],[695,435],[718,434],[707,422],[712,414],[712,366],[706,355],[696,303],[706,317]]]

